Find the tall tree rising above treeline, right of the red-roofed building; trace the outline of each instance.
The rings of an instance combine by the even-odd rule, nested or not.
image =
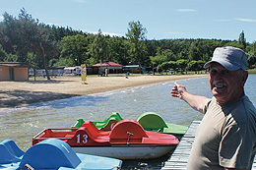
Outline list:
[[[147,57],[147,47],[144,42],[146,39],[147,29],[143,28],[141,23],[130,22],[126,36],[131,41],[130,54],[133,57],[133,63],[139,63],[140,66],[145,64]]]

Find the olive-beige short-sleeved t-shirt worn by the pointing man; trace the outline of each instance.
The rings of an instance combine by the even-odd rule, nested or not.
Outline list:
[[[220,104],[213,97],[205,105],[198,127],[188,170],[250,169],[256,142],[256,109],[243,97]]]

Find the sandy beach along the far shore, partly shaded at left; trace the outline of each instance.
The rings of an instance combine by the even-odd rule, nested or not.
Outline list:
[[[0,82],[0,107],[26,106],[40,101],[204,76],[206,75],[135,76],[128,79],[126,77],[88,77],[86,84],[83,84],[80,77],[58,77],[50,81]]]

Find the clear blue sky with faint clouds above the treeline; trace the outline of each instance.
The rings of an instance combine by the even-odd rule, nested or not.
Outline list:
[[[147,29],[147,39],[206,38],[256,41],[256,0],[1,0],[18,18],[25,8],[39,23],[89,33],[125,36],[130,22]]]

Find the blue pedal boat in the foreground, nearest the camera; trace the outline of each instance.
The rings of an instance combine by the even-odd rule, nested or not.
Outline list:
[[[69,144],[48,139],[26,152],[12,140],[0,142],[0,169],[10,170],[109,170],[120,169],[122,161],[115,158],[75,153]]]

